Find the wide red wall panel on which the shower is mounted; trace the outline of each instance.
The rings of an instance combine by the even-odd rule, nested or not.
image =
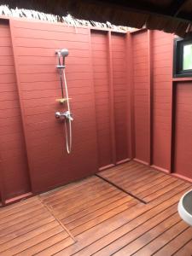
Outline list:
[[[19,79],[32,192],[69,183],[97,170],[90,37],[86,28],[14,20],[12,37]],[[69,49],[66,73],[73,122],[73,152],[66,152],[64,127],[55,111],[61,97],[56,49]]]

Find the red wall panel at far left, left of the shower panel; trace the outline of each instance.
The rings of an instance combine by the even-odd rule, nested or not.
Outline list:
[[[0,167],[3,201],[31,190],[9,23],[0,24]]]

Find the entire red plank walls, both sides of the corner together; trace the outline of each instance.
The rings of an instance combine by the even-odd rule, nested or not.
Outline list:
[[[0,24],[3,204],[130,158],[192,178],[190,79],[172,79],[171,34],[15,19]],[[65,109],[55,102],[61,97],[55,49],[61,48],[69,49],[70,155],[55,119]]]

